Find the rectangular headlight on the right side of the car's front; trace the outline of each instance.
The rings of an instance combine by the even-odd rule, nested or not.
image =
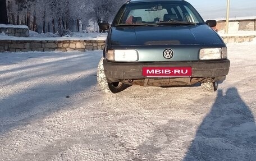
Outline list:
[[[227,58],[227,48],[205,48],[200,49],[199,59],[226,59]]]

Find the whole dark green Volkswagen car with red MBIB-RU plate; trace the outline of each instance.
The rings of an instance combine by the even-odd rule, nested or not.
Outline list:
[[[131,0],[117,12],[98,66],[98,86],[118,93],[131,85],[217,90],[230,68],[227,48],[190,3]]]

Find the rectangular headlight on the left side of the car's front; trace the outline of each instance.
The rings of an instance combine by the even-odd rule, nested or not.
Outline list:
[[[136,50],[108,50],[107,59],[117,62],[138,61],[138,52]]]

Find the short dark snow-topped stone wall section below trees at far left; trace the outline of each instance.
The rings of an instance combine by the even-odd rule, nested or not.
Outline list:
[[[6,25],[6,27],[0,27],[0,34],[1,33],[8,36],[29,37],[28,27],[10,27],[10,25]]]

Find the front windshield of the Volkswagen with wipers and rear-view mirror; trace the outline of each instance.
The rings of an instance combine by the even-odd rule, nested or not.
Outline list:
[[[202,17],[188,2],[128,3],[121,7],[115,26],[204,24]]]

